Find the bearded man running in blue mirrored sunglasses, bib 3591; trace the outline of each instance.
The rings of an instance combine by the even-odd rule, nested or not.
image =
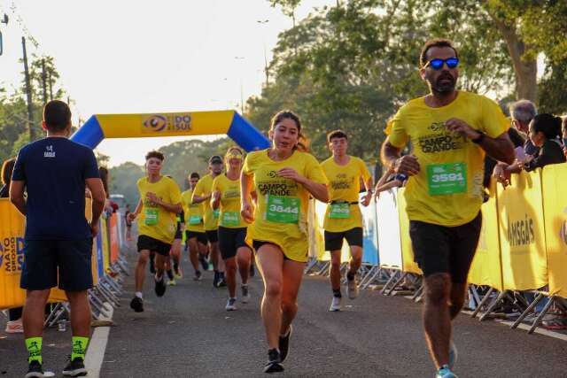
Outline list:
[[[485,154],[512,163],[509,122],[485,96],[455,89],[452,42],[426,42],[419,73],[430,94],[400,108],[382,146],[384,166],[409,176],[409,234],[424,276],[423,328],[437,377],[454,378],[453,320],[461,312],[482,224]],[[400,157],[411,142],[413,151]]]

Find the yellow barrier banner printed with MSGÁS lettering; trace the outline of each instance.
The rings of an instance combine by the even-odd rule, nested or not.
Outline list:
[[[503,289],[540,289],[548,284],[540,170],[512,174],[498,185]]]

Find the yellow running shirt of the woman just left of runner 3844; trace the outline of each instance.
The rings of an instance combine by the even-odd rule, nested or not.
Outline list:
[[[248,224],[240,216],[240,177],[230,180],[226,174],[216,176],[213,181],[213,193],[221,192],[219,208],[219,226],[223,228],[245,228]]]

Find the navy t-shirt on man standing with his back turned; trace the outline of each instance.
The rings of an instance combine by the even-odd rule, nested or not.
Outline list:
[[[26,240],[89,238],[85,180],[97,177],[92,150],[66,138],[45,138],[19,150],[12,181],[26,182]]]

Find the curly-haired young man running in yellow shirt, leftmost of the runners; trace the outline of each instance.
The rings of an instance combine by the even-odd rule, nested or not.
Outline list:
[[[167,176],[161,175],[161,167],[164,156],[159,151],[150,151],[145,156],[145,169],[147,176],[137,181],[140,193],[140,202],[135,212],[128,214],[128,219],[133,221],[140,216],[138,221],[138,262],[136,265],[136,294],[130,302],[130,307],[135,312],[144,311],[144,289],[145,266],[150,258],[150,252],[156,254],[156,274],[154,276],[155,292],[158,297],[163,297],[166,292],[164,282],[164,271],[169,251],[175,239],[177,226],[177,214],[182,212],[181,191],[179,187]]]

